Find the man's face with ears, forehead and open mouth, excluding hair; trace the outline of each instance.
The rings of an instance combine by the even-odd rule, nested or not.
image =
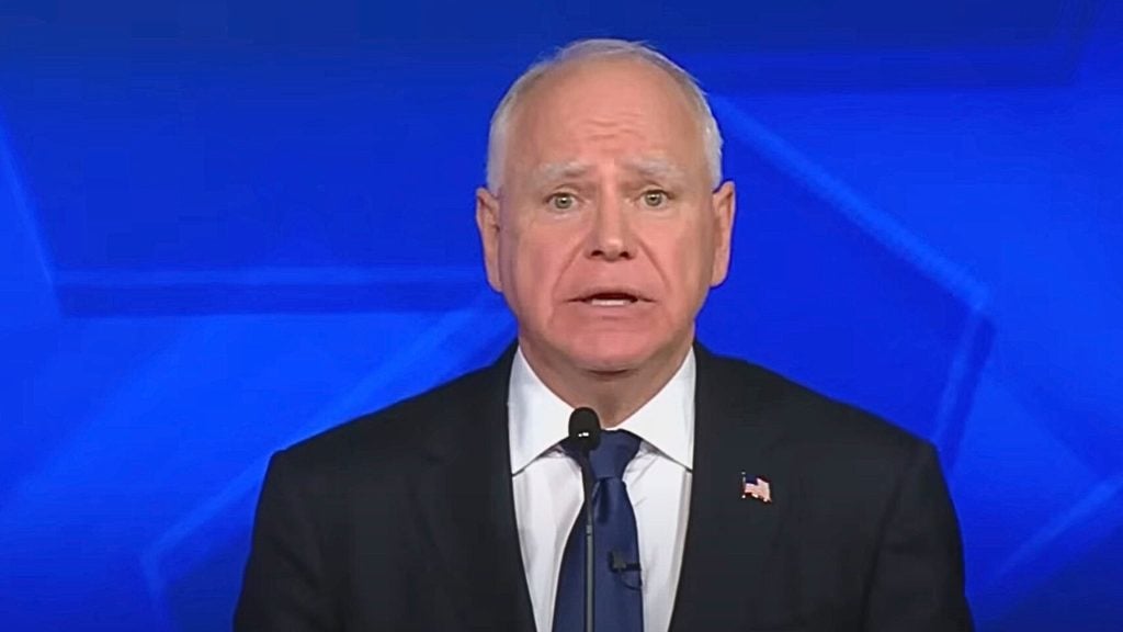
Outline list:
[[[642,62],[576,62],[512,114],[476,220],[523,353],[555,372],[681,361],[725,278],[734,204],[731,182],[711,190],[686,94]]]

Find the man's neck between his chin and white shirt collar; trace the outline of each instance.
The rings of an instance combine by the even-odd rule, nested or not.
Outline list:
[[[596,410],[601,426],[612,428],[642,408],[670,381],[690,353],[691,341],[641,365],[619,371],[558,365],[546,361],[522,341],[520,347],[527,363],[547,388],[574,408],[588,406]]]

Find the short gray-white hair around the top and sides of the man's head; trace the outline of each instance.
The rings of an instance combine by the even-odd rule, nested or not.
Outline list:
[[[645,62],[663,70],[675,80],[691,105],[696,110],[699,125],[702,128],[702,141],[705,144],[706,168],[710,173],[712,184],[716,188],[721,184],[721,132],[718,129],[718,120],[710,110],[705,93],[699,87],[697,81],[678,64],[667,58],[650,46],[639,42],[627,42],[623,39],[581,39],[566,45],[557,51],[553,56],[542,60],[522,73],[508,89],[503,100],[499,102],[495,112],[492,115],[491,129],[487,134],[487,189],[492,193],[499,193],[502,186],[500,177],[504,153],[506,151],[506,136],[511,126],[511,116],[519,107],[519,102],[526,93],[546,76],[551,70],[567,63],[604,58],[627,58]]]

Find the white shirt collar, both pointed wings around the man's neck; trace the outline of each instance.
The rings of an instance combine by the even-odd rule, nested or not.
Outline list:
[[[695,373],[694,350],[691,349],[678,371],[659,392],[619,426],[687,470],[694,464]],[[573,406],[542,382],[522,350],[518,350],[511,364],[508,399],[512,475],[569,435],[570,413]]]

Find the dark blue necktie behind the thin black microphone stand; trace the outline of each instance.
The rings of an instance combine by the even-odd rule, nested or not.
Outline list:
[[[578,452],[563,443],[566,452]],[[639,437],[624,431],[601,433],[601,445],[590,454],[593,477],[593,539],[596,550],[594,621],[596,632],[642,632],[643,595],[640,590],[639,539],[636,513],[621,478],[639,450]],[[586,500],[587,502],[587,500]],[[562,556],[558,593],[554,604],[554,632],[585,629],[585,508],[569,532]]]

